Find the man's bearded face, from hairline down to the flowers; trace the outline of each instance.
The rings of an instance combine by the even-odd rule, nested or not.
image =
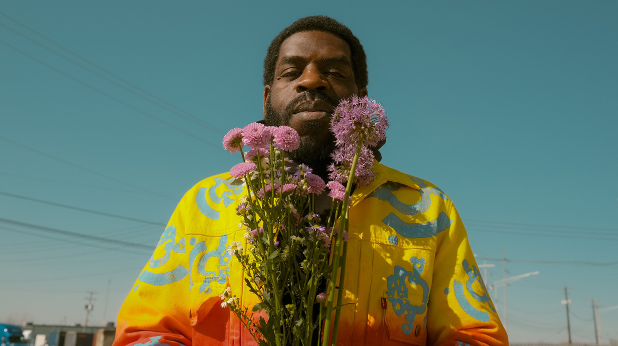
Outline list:
[[[329,130],[339,100],[367,95],[354,80],[349,45],[331,33],[299,32],[281,44],[273,85],[264,88],[268,125],[289,125],[300,135],[298,161],[323,166],[334,149]]]

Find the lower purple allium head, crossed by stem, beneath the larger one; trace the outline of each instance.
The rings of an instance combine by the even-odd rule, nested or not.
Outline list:
[[[355,149],[349,146],[344,146],[337,148],[331,154],[334,162],[328,166],[328,170],[330,171],[328,174],[329,179],[341,183],[347,182],[353,159],[353,157],[350,156],[353,156],[354,150]],[[350,152],[352,152],[352,155],[349,154]],[[369,185],[373,181],[375,177],[375,173],[371,171],[373,159],[373,152],[366,146],[363,146],[360,150],[360,156],[358,156],[356,171],[354,172],[354,180],[358,185]]]

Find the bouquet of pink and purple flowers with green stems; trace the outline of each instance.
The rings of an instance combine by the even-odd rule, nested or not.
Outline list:
[[[229,306],[261,346],[335,344],[349,196],[353,184],[373,180],[369,147],[386,138],[387,126],[384,109],[373,99],[342,100],[331,119],[337,149],[328,183],[311,167],[289,159],[300,143],[291,127],[253,123],[224,137],[224,148],[240,152],[243,161],[230,173],[242,179],[248,191],[236,209],[247,229],[247,251],[237,241],[227,251],[242,264],[245,283],[260,303],[243,306],[227,287],[221,306]],[[251,149],[245,152],[245,145]],[[316,196],[327,188],[331,209],[321,216],[315,210]]]

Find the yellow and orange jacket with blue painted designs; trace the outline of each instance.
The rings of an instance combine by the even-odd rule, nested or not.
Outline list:
[[[337,345],[508,345],[450,198],[430,182],[376,163],[354,191]],[[189,190],[133,285],[114,346],[255,345],[221,294],[257,298],[226,248],[247,239],[229,173]]]

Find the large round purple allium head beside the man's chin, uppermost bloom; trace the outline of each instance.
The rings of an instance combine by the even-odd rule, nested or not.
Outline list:
[[[331,131],[337,145],[356,146],[360,140],[367,146],[376,146],[386,138],[389,126],[382,105],[367,96],[343,99],[332,113]]]

